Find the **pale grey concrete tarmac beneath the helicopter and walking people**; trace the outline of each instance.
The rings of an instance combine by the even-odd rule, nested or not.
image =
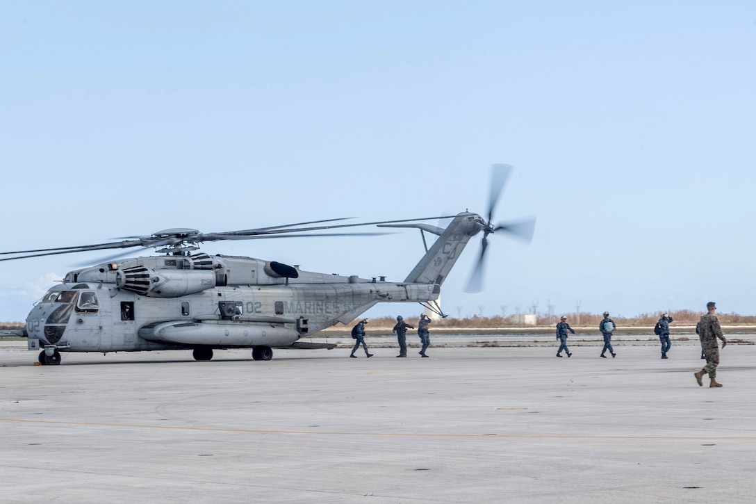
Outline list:
[[[553,343],[33,366],[4,342],[0,502],[756,499],[756,346],[720,351],[717,389],[695,344]]]

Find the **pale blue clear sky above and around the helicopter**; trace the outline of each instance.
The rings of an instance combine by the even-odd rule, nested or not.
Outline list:
[[[447,313],[756,313],[754,2],[0,2],[2,250],[484,213]],[[401,281],[420,234],[206,244]],[[79,254],[0,263],[23,320]],[[42,291],[40,291],[42,289]],[[414,316],[417,305],[369,315]]]

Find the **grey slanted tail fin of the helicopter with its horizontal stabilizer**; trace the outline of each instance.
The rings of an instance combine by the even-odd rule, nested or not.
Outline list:
[[[422,224],[412,226],[422,231],[432,232],[438,235],[438,239],[407,275],[404,282],[442,285],[469,239],[477,235],[483,226],[485,223],[482,217],[469,212],[457,214],[446,229]],[[409,226],[404,225],[404,227]]]

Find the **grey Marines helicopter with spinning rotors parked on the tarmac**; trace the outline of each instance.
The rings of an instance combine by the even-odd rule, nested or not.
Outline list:
[[[0,253],[16,260],[90,250],[150,248],[161,256],[110,261],[68,272],[60,285],[39,300],[20,331],[2,335],[27,338],[39,363],[60,364],[61,352],[138,352],[193,350],[210,360],[213,350],[251,348],[255,360],[270,360],[273,348],[333,348],[299,341],[321,329],[349,323],[376,303],[423,303],[439,315],[441,286],[470,238],[483,233],[479,260],[467,291],[482,288],[487,237],[511,232],[529,240],[534,219],[492,223],[494,207],[511,166],[491,166],[488,220],[476,213],[383,222],[333,224],[330,219],[243,231],[201,233],[166,229],[122,241]],[[451,219],[446,228],[411,222]],[[302,227],[311,224],[321,226]],[[280,238],[302,232],[354,226],[420,229],[438,235],[402,282],[302,271],[276,261],[195,253],[205,241]],[[305,236],[305,235],[302,235]],[[323,236],[320,234],[319,236]],[[194,253],[194,254],[193,254]]]

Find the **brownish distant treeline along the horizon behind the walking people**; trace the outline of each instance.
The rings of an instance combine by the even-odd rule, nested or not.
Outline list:
[[[703,312],[694,312],[691,310],[672,310],[668,313],[669,316],[671,316],[674,320],[673,324],[680,325],[696,325],[696,322],[699,322],[701,316],[703,315]],[[578,316],[575,313],[567,313],[565,315],[567,316],[567,322],[570,325],[578,325]],[[659,317],[662,316],[662,313],[642,313],[641,315],[634,317],[623,317],[616,315],[609,316],[612,318],[612,320],[615,321],[615,324],[617,324],[618,327],[653,327]],[[603,318],[603,315],[581,312],[579,325],[595,325],[596,328],[598,328],[599,322]],[[717,313],[717,318],[719,319],[721,325],[756,325],[756,316],[738,315],[737,313]],[[405,319],[407,319],[408,324],[417,325],[417,317],[405,317]],[[432,324],[437,328],[522,327],[523,325],[526,325],[524,322],[522,322],[522,319],[523,316],[516,315],[508,317],[498,315],[492,317],[469,316],[463,319],[448,316],[446,319],[435,321]],[[358,322],[358,320],[359,319],[355,319],[355,322],[353,323]],[[555,325],[556,322],[559,322],[559,316],[549,317],[539,315],[536,319],[536,325],[540,326]],[[374,319],[370,319],[370,325],[373,327],[393,326],[395,323],[396,319],[394,317],[376,317]]]

